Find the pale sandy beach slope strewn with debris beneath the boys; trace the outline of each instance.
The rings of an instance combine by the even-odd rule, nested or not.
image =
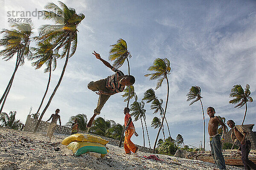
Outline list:
[[[0,128],[0,170],[218,170],[215,164],[157,155],[154,161],[126,155],[123,148],[107,144],[109,153],[97,159],[89,154],[73,156],[61,142],[65,136],[54,135],[52,141],[43,134]],[[60,151],[54,149],[59,147]],[[150,153],[138,152],[138,156]],[[227,166],[228,170],[243,170]]]

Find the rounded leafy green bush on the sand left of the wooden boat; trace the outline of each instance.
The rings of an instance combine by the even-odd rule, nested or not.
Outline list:
[[[167,140],[166,142],[163,142],[157,147],[157,153],[163,154],[163,155],[174,155],[177,151],[178,147],[174,142],[171,142]]]

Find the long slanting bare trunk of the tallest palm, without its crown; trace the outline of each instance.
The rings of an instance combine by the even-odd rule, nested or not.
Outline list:
[[[40,116],[40,118],[39,118],[39,120],[38,120],[38,122],[37,122],[37,124],[36,124],[36,126],[35,126],[34,133],[35,133],[36,130],[38,129],[38,126],[39,126],[39,124],[40,124],[40,122],[41,122],[41,120],[42,120],[42,118],[43,118],[43,116],[44,116],[44,113],[46,112],[47,108],[49,107],[49,105],[50,105],[50,103],[51,103],[51,101],[52,101],[53,96],[55,95],[55,93],[56,93],[56,91],[57,91],[59,85],[61,84],[61,80],[62,80],[62,77],[63,77],[63,75],[64,75],[65,69],[66,69],[66,67],[67,67],[67,62],[68,62],[68,58],[69,58],[72,33],[69,33],[69,36],[70,36],[70,37],[69,37],[70,40],[69,40],[69,42],[68,42],[68,47],[67,47],[67,56],[66,56],[65,64],[64,64],[63,69],[62,69],[61,77],[60,77],[60,79],[59,79],[59,81],[58,81],[58,84],[56,85],[55,89],[53,90],[52,95],[50,96],[49,101],[48,101],[47,105],[46,105],[45,108],[44,108],[44,111],[41,113],[41,116]]]

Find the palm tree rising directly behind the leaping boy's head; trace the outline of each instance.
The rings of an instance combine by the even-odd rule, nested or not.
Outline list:
[[[126,59],[127,64],[128,64],[128,75],[130,75],[130,64],[129,64],[128,58],[131,58],[131,52],[128,51],[126,41],[123,40],[122,38],[120,38],[119,40],[117,40],[116,44],[110,45],[110,46],[111,46],[111,49],[109,51],[108,59],[110,61],[114,61],[113,67],[115,67],[115,68],[121,67]],[[129,87],[128,100],[127,100],[127,106],[126,106],[127,108],[129,107],[130,91],[131,91],[131,89]],[[125,125],[123,125],[123,129],[125,129]],[[122,138],[123,138],[123,134],[122,134],[120,142],[119,142],[119,147],[121,147],[121,145],[122,145]]]

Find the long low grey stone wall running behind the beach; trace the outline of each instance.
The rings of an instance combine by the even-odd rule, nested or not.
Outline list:
[[[37,119],[32,119],[30,118],[30,116],[28,116],[28,119],[26,121],[26,131],[29,131],[29,132],[33,132],[34,129],[35,129],[35,125],[37,124],[38,120]],[[39,124],[39,127],[38,127],[38,130],[37,132],[39,133],[47,133],[47,130],[48,130],[48,126],[50,125],[49,122],[44,122],[44,121],[41,121],[40,124]],[[57,125],[54,133],[58,133],[58,134],[64,134],[64,135],[70,135],[71,133],[71,128],[70,127],[67,127],[67,126],[61,126],[60,125]],[[82,132],[80,131],[80,133],[87,133],[87,132]],[[88,133],[88,134],[91,134],[91,133]],[[111,138],[108,138],[108,137],[105,137],[105,136],[99,136],[99,135],[96,135],[96,134],[91,134],[91,135],[94,135],[94,136],[98,136],[98,137],[101,137],[102,139],[105,139],[105,140],[108,140],[109,144],[112,144],[112,145],[116,145],[116,146],[119,146],[119,140],[116,140],[116,139],[111,139]],[[137,147],[140,148],[140,151],[142,152],[146,152],[146,153],[153,153],[153,149],[151,148],[148,148],[148,147],[143,147],[143,146],[140,146],[140,145],[137,145],[135,144]],[[124,146],[124,142],[122,142],[122,147]]]

